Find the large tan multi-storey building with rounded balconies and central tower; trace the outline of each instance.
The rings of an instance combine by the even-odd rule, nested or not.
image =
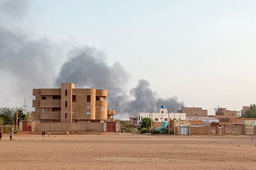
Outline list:
[[[107,90],[75,89],[62,83],[61,89],[33,89],[32,119],[39,122],[107,120]],[[111,112],[111,111],[110,111]],[[114,112],[109,112],[112,116]]]

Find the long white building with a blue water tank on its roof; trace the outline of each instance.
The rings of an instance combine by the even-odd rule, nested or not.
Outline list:
[[[159,108],[158,113],[152,113],[152,120],[154,122],[168,122],[168,111],[165,106]],[[151,118],[151,113],[137,113],[137,124],[141,122],[143,118]],[[174,113],[170,113],[170,120],[174,118]],[[175,119],[186,120],[186,113],[175,113]]]

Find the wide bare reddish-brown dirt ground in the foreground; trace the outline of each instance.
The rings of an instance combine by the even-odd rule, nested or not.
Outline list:
[[[0,141],[0,170],[256,170],[256,137],[15,134]]]

